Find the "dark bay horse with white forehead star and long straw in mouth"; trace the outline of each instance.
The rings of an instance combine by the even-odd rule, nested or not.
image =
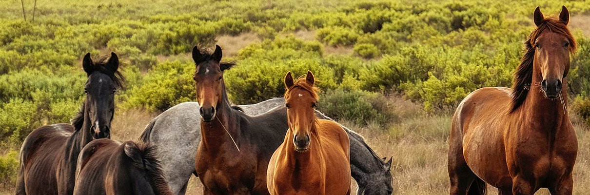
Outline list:
[[[268,194],[268,160],[287,131],[286,112],[274,109],[250,117],[232,107],[223,72],[234,64],[220,62],[219,46],[214,54],[195,47],[192,55],[202,120],[195,170],[204,194]]]

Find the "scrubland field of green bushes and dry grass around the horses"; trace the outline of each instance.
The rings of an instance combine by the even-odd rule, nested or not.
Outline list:
[[[571,12],[578,41],[568,109],[578,134],[574,194],[590,191],[588,1],[21,1],[0,0],[0,194],[34,128],[68,123],[84,99],[81,58],[116,52],[113,139],[135,140],[173,105],[195,101],[194,45],[223,49],[230,99],[280,97],[283,77],[311,70],[319,110],[393,157],[394,194],[447,194],[451,116],[481,87],[512,85],[532,13]],[[4,6],[6,5],[6,6]],[[201,194],[191,179],[189,194]],[[491,194],[495,190],[491,190]],[[537,194],[548,194],[540,191]]]

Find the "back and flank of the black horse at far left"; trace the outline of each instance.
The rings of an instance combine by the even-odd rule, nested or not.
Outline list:
[[[58,160],[64,157],[63,148],[74,132],[70,124],[60,123],[33,130],[21,146],[19,181],[24,181],[27,194],[57,194]]]

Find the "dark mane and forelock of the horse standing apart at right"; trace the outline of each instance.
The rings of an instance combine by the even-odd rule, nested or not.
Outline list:
[[[535,59],[535,41],[545,31],[555,32],[565,36],[569,39],[569,52],[573,53],[576,51],[576,41],[573,38],[572,33],[569,31],[567,24],[561,21],[559,18],[547,17],[543,19],[541,24],[537,26],[530,33],[529,38],[525,43],[525,55],[520,60],[520,64],[514,72],[514,84],[512,86],[512,108],[510,113],[514,112],[525,102],[527,90],[526,85],[530,85],[533,80],[533,60]]]

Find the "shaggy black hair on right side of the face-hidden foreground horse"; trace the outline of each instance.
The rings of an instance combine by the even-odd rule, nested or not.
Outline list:
[[[156,147],[133,141],[127,141],[124,144],[124,153],[131,158],[133,166],[146,171],[146,179],[152,184],[154,193],[172,195],[158,160]]]

